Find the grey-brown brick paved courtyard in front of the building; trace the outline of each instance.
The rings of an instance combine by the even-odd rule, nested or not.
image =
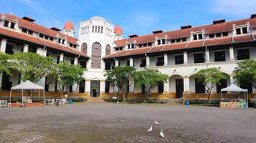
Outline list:
[[[110,103],[12,107],[0,109],[0,142],[256,142],[255,122],[256,109]],[[159,137],[160,129],[167,139]]]

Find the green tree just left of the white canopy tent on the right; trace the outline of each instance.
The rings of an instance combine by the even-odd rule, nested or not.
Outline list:
[[[216,68],[201,69],[191,77],[198,79],[198,81],[204,85],[205,91],[208,95],[206,104],[210,102],[212,89],[216,84],[219,84],[221,79],[226,79],[224,74]]]

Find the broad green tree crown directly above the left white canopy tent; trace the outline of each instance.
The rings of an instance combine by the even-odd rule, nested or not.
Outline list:
[[[16,53],[11,55],[10,67],[21,74],[22,81],[29,80],[37,84],[40,79],[55,72],[52,57],[42,57],[35,53]]]

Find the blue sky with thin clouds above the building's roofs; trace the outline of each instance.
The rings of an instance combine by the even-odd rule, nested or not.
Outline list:
[[[78,32],[79,21],[102,16],[119,24],[124,36],[170,31],[184,24],[200,26],[214,19],[249,18],[256,13],[256,0],[0,0],[1,13],[30,16],[35,23],[63,29],[70,19]],[[76,34],[77,36],[77,34]]]

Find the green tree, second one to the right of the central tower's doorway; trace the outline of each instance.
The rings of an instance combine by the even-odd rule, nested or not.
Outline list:
[[[134,82],[138,87],[145,85],[146,99],[149,97],[150,92],[154,89],[159,82],[167,82],[168,75],[161,74],[157,69],[146,69],[142,71],[136,71],[134,73]]]

